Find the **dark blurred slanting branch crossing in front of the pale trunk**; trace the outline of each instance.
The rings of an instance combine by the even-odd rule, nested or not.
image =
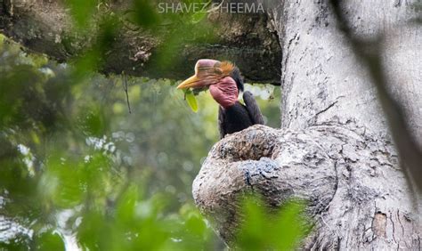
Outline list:
[[[385,69],[382,66],[381,53],[379,52],[379,41],[382,36],[378,36],[373,41],[364,41],[353,34],[350,25],[345,19],[341,10],[341,0],[330,0],[334,15],[337,19],[339,30],[345,35],[350,42],[355,56],[369,69],[369,76],[372,84],[377,89],[379,101],[384,110],[388,126],[393,135],[395,146],[402,159],[402,170],[416,184],[419,191],[422,191],[422,151],[419,149],[414,137],[410,134],[410,130],[404,118],[404,109],[402,104],[394,100],[393,96],[387,91],[385,86],[389,82],[385,75]],[[366,50],[370,46],[375,53],[369,53]],[[411,186],[411,184],[410,184]]]

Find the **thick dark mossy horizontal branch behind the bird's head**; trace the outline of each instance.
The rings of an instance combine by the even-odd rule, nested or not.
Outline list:
[[[0,0],[0,32],[58,61],[82,54],[93,45],[98,27],[89,33],[75,32],[69,8],[62,2]],[[107,7],[99,5],[94,14],[111,15],[132,8],[129,0],[113,3]],[[157,55],[168,42],[166,36],[179,35],[170,32],[180,24],[158,26],[151,32],[131,25],[125,16],[119,16],[119,21],[121,30],[113,47],[103,55],[102,72],[125,71],[134,76],[183,79],[191,76],[196,61],[212,58],[235,62],[248,82],[280,85],[280,43],[266,13],[210,12],[207,14],[207,21],[211,23],[209,30],[192,33],[172,46],[171,53],[166,53],[166,61],[173,63],[166,68],[159,65]],[[215,37],[190,42],[193,37],[204,34]]]

